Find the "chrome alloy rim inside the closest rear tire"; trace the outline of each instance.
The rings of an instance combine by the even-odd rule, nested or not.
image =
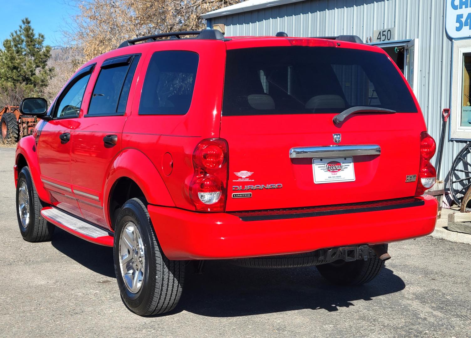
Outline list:
[[[144,281],[146,257],[141,234],[133,222],[126,223],[121,230],[119,256],[121,275],[126,288],[132,293],[138,293]]]

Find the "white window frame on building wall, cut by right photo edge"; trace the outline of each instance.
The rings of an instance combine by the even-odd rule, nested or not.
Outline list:
[[[471,125],[461,126],[463,105],[463,54],[471,53],[471,40],[453,41],[453,59],[451,76],[450,139],[471,140]]]

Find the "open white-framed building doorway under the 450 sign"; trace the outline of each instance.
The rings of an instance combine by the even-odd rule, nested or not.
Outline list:
[[[401,41],[388,41],[387,43],[378,42],[371,43],[371,45],[384,49],[394,61],[398,68],[402,71],[404,76],[412,87],[415,96],[418,96],[418,74],[415,72],[419,69],[419,39],[401,40]]]

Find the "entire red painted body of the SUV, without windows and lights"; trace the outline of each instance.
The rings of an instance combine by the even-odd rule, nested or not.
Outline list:
[[[327,39],[299,41],[312,47],[353,48],[387,55],[378,47],[363,44],[341,41],[339,45]],[[427,196],[421,197],[425,201],[423,206],[400,210],[285,220],[242,221],[226,212],[195,212],[189,196],[194,175],[193,151],[203,139],[219,137],[227,140],[229,147],[227,195],[232,193],[232,185],[238,184],[234,173],[242,170],[253,172],[253,179],[260,180],[260,184],[283,184],[283,189],[258,191],[260,194],[254,193],[248,199],[228,197],[227,212],[414,196],[416,182],[407,184],[403,179],[419,171],[420,133],[426,126],[404,77],[416,113],[393,117],[356,115],[341,128],[333,126],[334,114],[221,117],[227,50],[276,46],[292,46],[292,38],[165,40],[118,48],[97,56],[82,67],[96,63],[79,117],[38,124],[36,131],[40,125],[42,128],[38,145],[32,136],[21,139],[16,163],[20,154],[25,157],[41,200],[108,229],[113,229],[109,200],[115,183],[121,178],[131,179],[146,197],[157,237],[170,259],[258,257],[350,244],[382,244],[429,234],[435,224],[437,202]],[[185,50],[199,55],[190,109],[185,115],[138,115],[149,61],[153,53],[164,50]],[[101,64],[109,58],[131,54],[140,54],[140,59],[125,113],[87,117]],[[316,125],[329,127],[315,130],[312,126]],[[359,178],[348,185],[329,183],[313,187],[312,162],[310,159],[292,161],[289,149],[331,145],[332,134],[339,130],[343,133],[342,144],[381,142],[382,152],[387,155],[356,158]],[[71,141],[65,147],[58,139],[63,132],[71,133]],[[103,136],[107,134],[118,135],[118,143],[112,148],[104,146]],[[406,148],[412,150],[401,151]],[[69,188],[70,193],[43,183],[41,177]],[[390,181],[400,183],[389,184]],[[106,241],[110,244],[109,238]]]

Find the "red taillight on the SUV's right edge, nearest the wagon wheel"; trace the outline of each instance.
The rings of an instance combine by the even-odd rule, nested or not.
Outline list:
[[[430,189],[437,180],[437,172],[430,163],[430,159],[435,154],[436,144],[433,138],[422,132],[420,134],[420,170],[419,179],[417,180],[417,189],[415,196],[420,196],[427,189]]]

